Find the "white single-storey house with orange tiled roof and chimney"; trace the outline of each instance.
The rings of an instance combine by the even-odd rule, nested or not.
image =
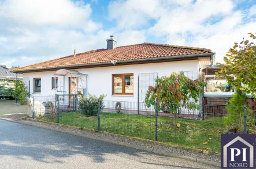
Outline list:
[[[84,95],[107,94],[109,101],[138,101],[146,93],[142,89],[154,85],[157,76],[172,72],[198,72],[212,66],[215,53],[210,49],[175,45],[143,43],[116,47],[110,36],[107,49],[98,49],[20,67],[13,72],[23,73],[30,94]],[[140,76],[140,79],[138,78]],[[55,77],[55,78],[54,78]],[[78,81],[78,83],[77,83]]]

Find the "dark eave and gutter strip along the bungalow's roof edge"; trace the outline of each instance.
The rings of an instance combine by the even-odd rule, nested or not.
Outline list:
[[[131,64],[145,64],[145,63],[159,63],[159,62],[175,62],[182,60],[196,60],[199,57],[212,57],[215,53],[201,53],[201,54],[191,54],[191,55],[179,55],[179,56],[159,56],[152,58],[144,58],[144,59],[135,59],[135,60],[120,60],[117,61],[117,66],[123,65],[131,65]],[[13,70],[12,72],[18,73],[26,73],[26,72],[42,72],[42,71],[56,71],[59,69],[77,69],[77,68],[92,68],[92,67],[107,67],[107,66],[115,66],[112,62],[104,62],[104,63],[91,63],[91,64],[77,64],[71,66],[58,66],[58,67],[47,67],[47,68],[36,68],[30,70]]]

